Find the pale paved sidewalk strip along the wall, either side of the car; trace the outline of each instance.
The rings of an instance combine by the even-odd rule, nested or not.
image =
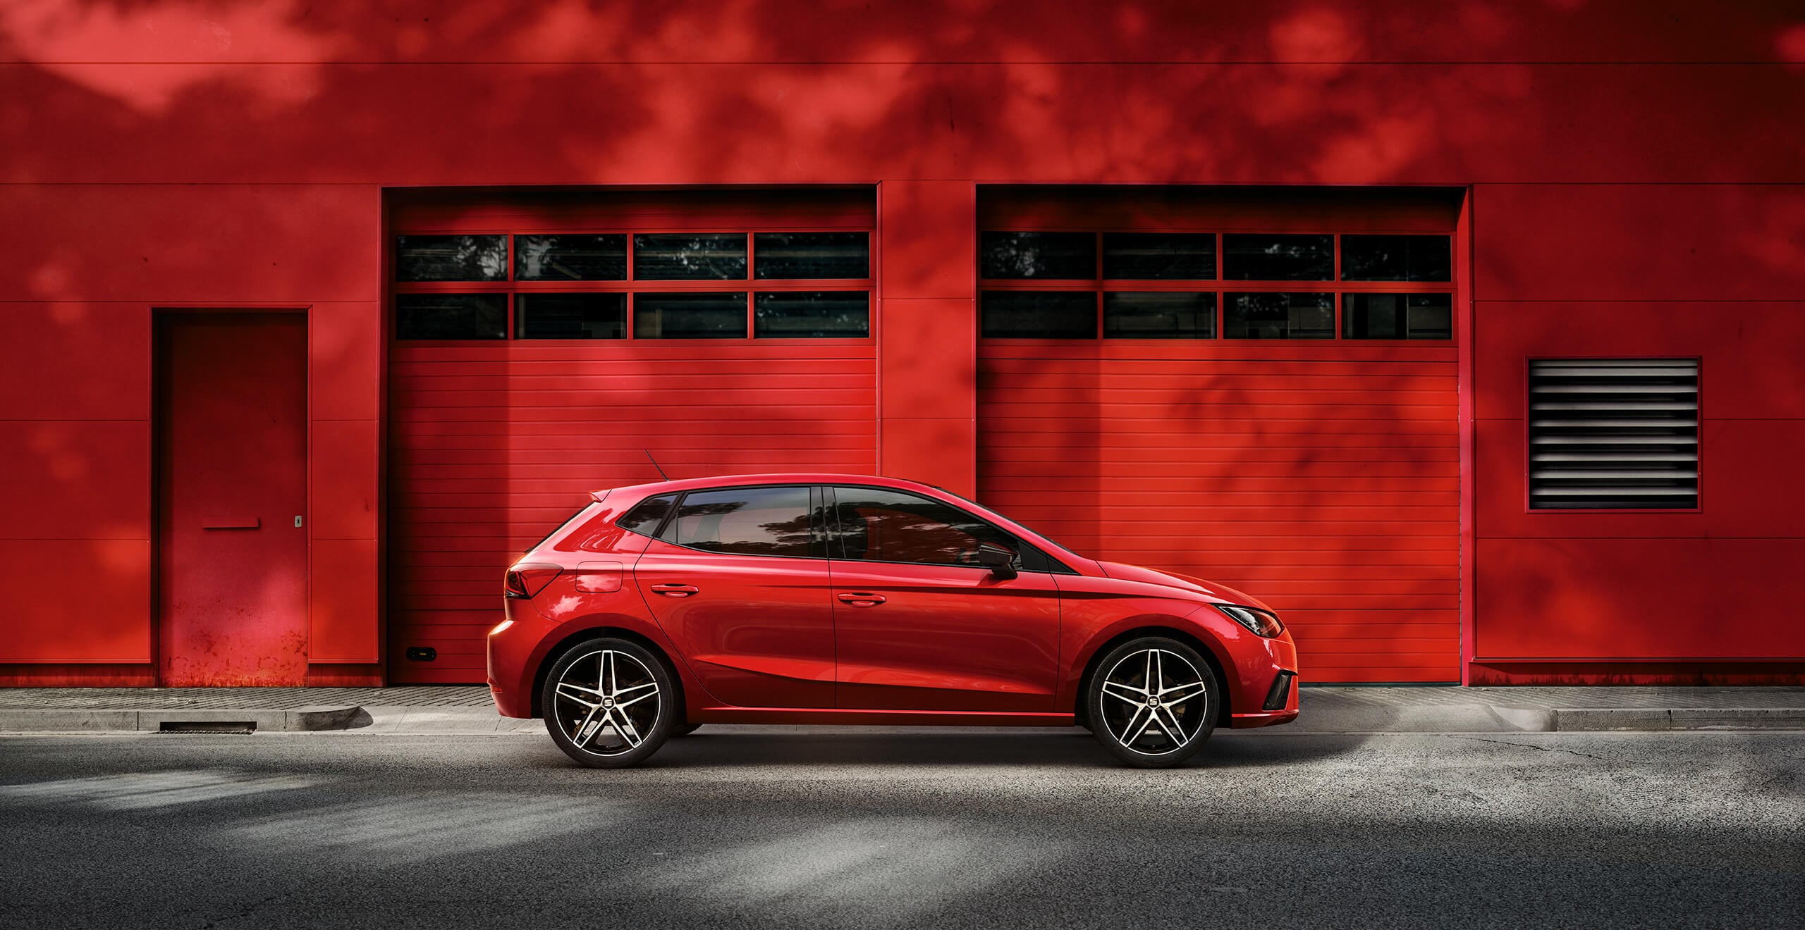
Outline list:
[[[1274,734],[1805,730],[1805,687],[1305,687]],[[0,688],[0,732],[538,734],[480,685]]]

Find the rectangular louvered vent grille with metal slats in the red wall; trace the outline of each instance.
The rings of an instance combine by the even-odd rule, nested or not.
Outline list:
[[[1529,506],[1699,506],[1699,362],[1529,362]]]

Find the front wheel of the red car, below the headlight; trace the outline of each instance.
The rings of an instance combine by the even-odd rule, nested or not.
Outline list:
[[[1135,768],[1184,762],[1215,730],[1222,685],[1195,647],[1143,636],[1110,649],[1085,687],[1090,732]]]

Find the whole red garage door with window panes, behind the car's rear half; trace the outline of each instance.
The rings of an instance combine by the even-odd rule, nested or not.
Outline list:
[[[482,681],[502,571],[588,490],[655,481],[646,451],[671,478],[875,470],[872,202],[395,204],[390,679]]]

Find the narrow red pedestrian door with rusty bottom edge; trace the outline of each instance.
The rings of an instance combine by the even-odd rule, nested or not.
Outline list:
[[[157,317],[157,672],[307,681],[307,324]]]

